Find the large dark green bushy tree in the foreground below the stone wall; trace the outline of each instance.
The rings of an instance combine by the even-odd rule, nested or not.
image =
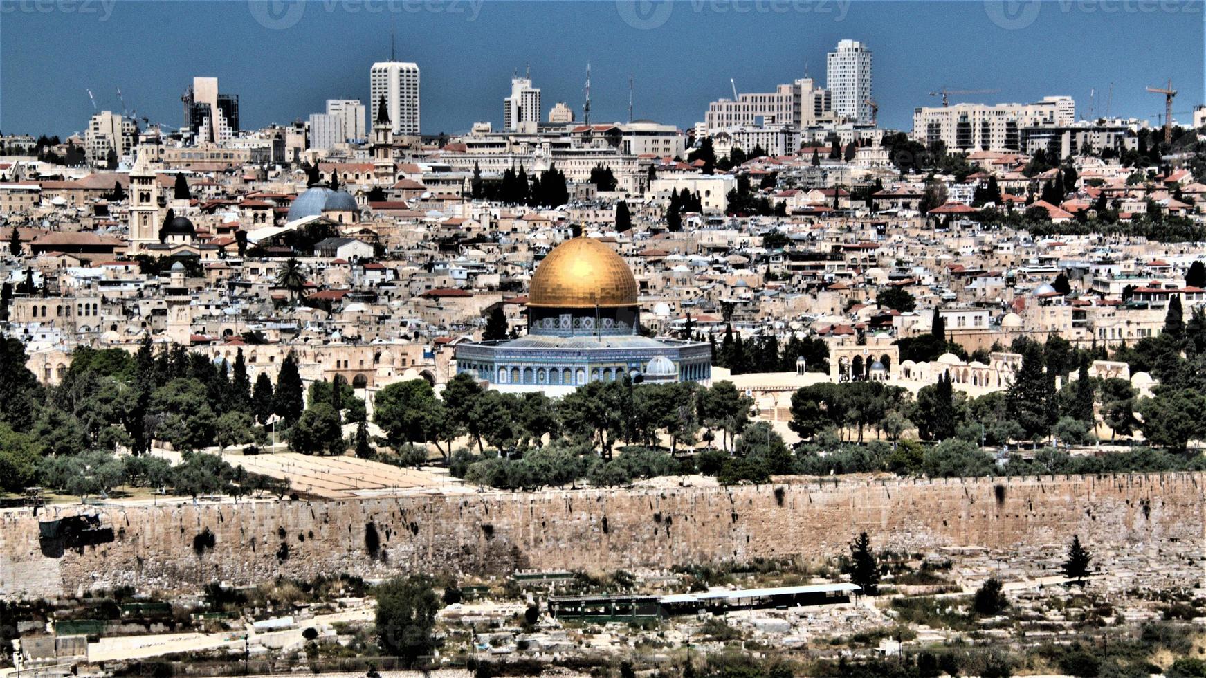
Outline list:
[[[376,586],[376,632],[381,653],[408,665],[434,648],[432,630],[439,598],[432,581],[421,575],[397,577]]]

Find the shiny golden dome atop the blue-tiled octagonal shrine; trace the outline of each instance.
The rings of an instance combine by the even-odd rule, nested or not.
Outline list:
[[[593,238],[574,238],[554,247],[537,267],[528,305],[636,306],[637,279],[611,247]]]

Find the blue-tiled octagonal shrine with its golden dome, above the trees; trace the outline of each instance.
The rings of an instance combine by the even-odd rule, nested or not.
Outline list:
[[[537,267],[528,333],[456,346],[457,372],[505,391],[567,392],[587,381],[707,381],[708,344],[640,335],[639,286],[607,244],[574,238]]]

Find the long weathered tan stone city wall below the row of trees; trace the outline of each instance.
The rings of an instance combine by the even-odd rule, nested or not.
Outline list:
[[[1146,554],[1155,563],[1183,566],[1202,556],[1204,483],[1200,473],[801,480],[731,489],[106,507],[101,524],[112,528],[111,537],[82,544],[40,539],[40,518],[12,510],[0,513],[0,596],[70,595],[123,584],[194,589],[277,574],[597,572],[757,556],[820,559],[843,553],[862,531],[877,548],[982,547],[1003,559],[1058,557],[1076,533],[1103,557]],[[52,507],[41,518],[55,512],[78,508]],[[205,530],[212,547],[197,538]]]

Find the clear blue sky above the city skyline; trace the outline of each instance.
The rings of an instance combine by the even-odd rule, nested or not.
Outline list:
[[[825,53],[847,37],[873,51],[880,124],[898,129],[941,87],[1000,90],[953,103],[1069,94],[1078,115],[1110,103],[1153,123],[1164,101],[1146,86],[1172,78],[1181,119],[1202,103],[1201,0],[0,0],[0,130],[83,130],[88,89],[121,111],[118,87],[139,117],[177,127],[194,75],[239,94],[245,129],[329,98],[367,103],[391,25],[397,58],[422,70],[428,134],[497,127],[527,66],[541,117],[557,100],[580,117],[587,62],[592,119],[627,118],[631,75],[634,118],[685,127],[731,97],[730,78],[766,92],[807,68],[824,83]]]

